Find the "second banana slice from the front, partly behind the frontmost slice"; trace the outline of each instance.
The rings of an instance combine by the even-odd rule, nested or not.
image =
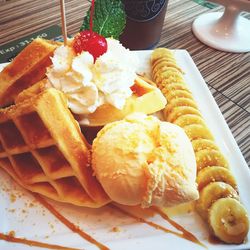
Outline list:
[[[238,193],[227,183],[213,182],[208,184],[200,192],[200,198],[196,201],[196,209],[203,219],[208,218],[208,211],[212,204],[220,199],[231,197],[239,199]]]

